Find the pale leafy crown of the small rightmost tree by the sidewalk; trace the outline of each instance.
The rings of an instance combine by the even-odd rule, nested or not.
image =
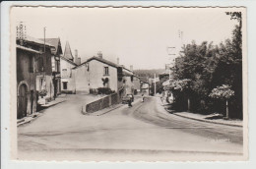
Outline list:
[[[223,84],[222,86],[217,86],[209,94],[213,98],[228,99],[234,95],[234,91],[230,89],[230,85]]]

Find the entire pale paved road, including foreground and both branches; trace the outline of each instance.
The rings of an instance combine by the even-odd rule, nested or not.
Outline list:
[[[102,115],[82,115],[94,97],[72,96],[18,128],[19,159],[224,160],[243,152],[242,129],[168,114],[147,97]],[[99,113],[100,114],[100,113]]]

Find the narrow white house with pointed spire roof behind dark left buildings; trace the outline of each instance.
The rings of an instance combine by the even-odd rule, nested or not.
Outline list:
[[[77,64],[74,63],[74,57],[69,42],[67,41],[64,55],[60,56],[61,92],[76,93],[76,87],[72,75],[72,69],[76,66]]]

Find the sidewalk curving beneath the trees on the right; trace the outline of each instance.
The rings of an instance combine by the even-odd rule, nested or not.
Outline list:
[[[161,102],[162,103],[162,102]],[[243,121],[242,120],[224,120],[222,118],[220,119],[209,119],[219,116],[219,114],[210,114],[210,115],[202,115],[202,114],[196,114],[196,113],[189,113],[189,112],[174,112],[173,110],[167,109],[168,104],[161,104],[164,106],[164,109],[176,116],[197,120],[201,122],[207,122],[207,123],[214,123],[214,124],[220,124],[220,125],[226,125],[226,126],[234,126],[234,127],[243,127]]]

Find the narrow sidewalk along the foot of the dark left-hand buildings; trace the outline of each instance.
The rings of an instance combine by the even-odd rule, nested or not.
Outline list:
[[[45,109],[45,108],[48,108],[48,107],[51,107],[51,106],[54,106],[56,104],[59,104],[59,103],[62,103],[64,101],[66,101],[66,95],[64,94],[61,94],[59,95],[57,98],[55,98],[55,100],[52,100],[44,105],[40,105],[41,106],[41,110]],[[31,115],[27,116],[27,117],[24,117],[22,119],[18,119],[17,120],[17,127],[19,126],[22,126],[24,124],[27,124],[27,123],[31,123],[34,119],[36,119],[37,117],[41,116],[41,113],[39,112],[34,112],[32,113]]]

